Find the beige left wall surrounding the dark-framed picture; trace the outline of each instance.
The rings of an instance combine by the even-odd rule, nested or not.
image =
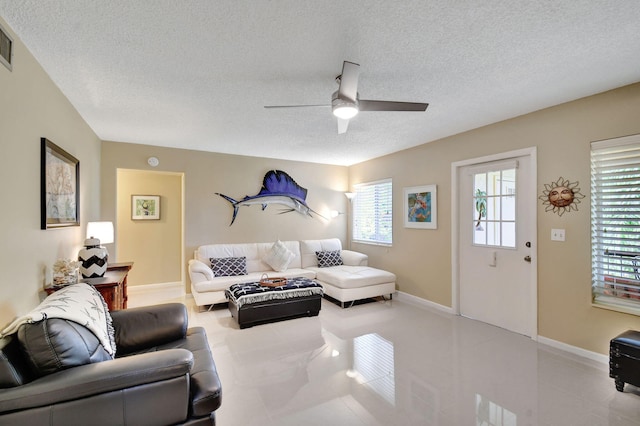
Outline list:
[[[99,219],[100,141],[40,65],[14,40],[13,71],[0,65],[0,327],[44,296],[45,267],[77,258],[86,223]],[[40,229],[40,138],[80,161],[82,226]]]

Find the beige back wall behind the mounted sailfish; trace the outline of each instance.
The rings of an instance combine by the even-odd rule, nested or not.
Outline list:
[[[156,156],[158,167],[147,164],[147,158]],[[318,213],[328,216],[330,210],[346,212],[348,187],[346,167],[296,161],[216,154],[183,149],[162,148],[117,142],[102,143],[102,193],[101,211],[104,220],[114,220],[119,228],[123,223],[116,218],[117,170],[143,170],[184,173],[184,239],[183,265],[193,257],[193,251],[202,244],[270,242],[280,240],[337,237],[346,241],[347,216],[332,220],[306,217],[298,213],[279,214],[284,206],[270,205],[265,211],[260,206],[240,207],[233,226],[229,226],[233,209],[230,204],[215,195],[223,193],[240,199],[260,191],[262,179],[272,169],[283,170],[296,182],[307,188],[307,204]],[[126,197],[130,194],[125,194]],[[125,221],[129,219],[125,218]],[[117,230],[119,234],[120,231]],[[136,239],[134,231],[128,238]],[[115,248],[118,261],[134,261],[135,254],[120,253]],[[159,260],[158,260],[159,261]],[[132,269],[132,278],[137,263]],[[158,278],[159,282],[167,282]],[[185,280],[189,292],[189,279]],[[146,284],[149,280],[132,279],[132,285]]]

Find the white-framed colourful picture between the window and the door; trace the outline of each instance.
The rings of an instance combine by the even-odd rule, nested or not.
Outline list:
[[[436,185],[404,188],[404,227],[438,228],[438,197]]]

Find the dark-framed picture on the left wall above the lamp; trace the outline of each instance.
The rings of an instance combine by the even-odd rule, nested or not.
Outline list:
[[[40,228],[80,226],[80,162],[40,139]]]

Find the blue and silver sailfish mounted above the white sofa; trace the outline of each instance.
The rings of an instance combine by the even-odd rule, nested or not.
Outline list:
[[[311,213],[320,216],[307,205],[307,189],[298,185],[291,176],[282,170],[268,171],[262,180],[262,188],[256,195],[247,195],[241,200],[234,200],[219,192],[216,192],[216,195],[221,196],[233,206],[233,217],[229,226],[235,222],[240,206],[252,204],[260,204],[262,210],[266,209],[269,204],[282,204],[289,208],[281,211],[280,214],[295,211],[306,216],[312,216]]]

